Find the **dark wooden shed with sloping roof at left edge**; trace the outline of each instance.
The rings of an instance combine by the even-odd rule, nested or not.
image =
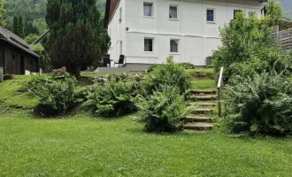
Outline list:
[[[25,74],[25,71],[37,73],[39,56],[18,35],[0,27],[0,66],[5,73]]]

